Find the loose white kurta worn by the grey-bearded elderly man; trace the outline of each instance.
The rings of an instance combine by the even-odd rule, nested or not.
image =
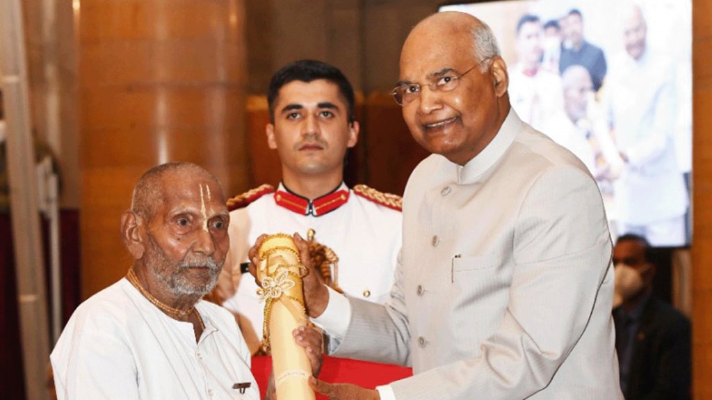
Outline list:
[[[259,399],[234,317],[196,305],[205,324],[165,315],[126,279],[83,302],[51,354],[58,398]],[[249,382],[244,394],[232,389]]]

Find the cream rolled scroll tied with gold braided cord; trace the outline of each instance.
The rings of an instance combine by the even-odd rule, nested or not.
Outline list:
[[[305,269],[297,246],[284,233],[267,236],[258,249],[258,294],[265,302],[264,345],[271,349],[274,381],[279,400],[313,400],[309,386],[311,364],[305,349],[292,336],[307,324],[302,291]]]

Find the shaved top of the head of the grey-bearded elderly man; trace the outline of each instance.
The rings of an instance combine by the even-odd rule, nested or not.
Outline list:
[[[169,162],[149,169],[136,182],[131,199],[131,210],[142,219],[151,219],[164,194],[164,183],[171,179],[189,179],[203,177],[220,187],[216,193],[224,199],[220,182],[210,172],[190,162]]]

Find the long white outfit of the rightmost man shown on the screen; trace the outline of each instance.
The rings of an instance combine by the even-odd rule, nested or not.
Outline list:
[[[688,198],[676,160],[674,70],[669,60],[646,51],[611,63],[604,111],[628,164],[614,184],[619,221],[644,226],[683,216]],[[620,233],[626,233],[625,230]],[[684,238],[661,238],[653,246],[679,246]]]

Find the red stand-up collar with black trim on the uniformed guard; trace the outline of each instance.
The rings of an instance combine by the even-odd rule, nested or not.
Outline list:
[[[284,183],[281,183],[274,194],[274,201],[278,206],[300,215],[323,216],[346,204],[349,194],[348,186],[342,182],[329,193],[310,201],[306,197],[290,191]]]

